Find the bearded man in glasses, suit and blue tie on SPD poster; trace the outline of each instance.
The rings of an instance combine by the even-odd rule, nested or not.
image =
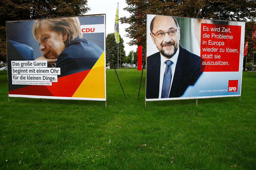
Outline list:
[[[159,52],[147,57],[146,99],[182,96],[202,74],[200,57],[180,46],[180,27],[172,16],[155,16],[150,36]]]

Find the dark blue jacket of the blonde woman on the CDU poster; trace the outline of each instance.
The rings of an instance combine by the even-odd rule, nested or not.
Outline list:
[[[103,50],[91,41],[76,38],[58,57],[59,77],[92,69],[102,53]]]

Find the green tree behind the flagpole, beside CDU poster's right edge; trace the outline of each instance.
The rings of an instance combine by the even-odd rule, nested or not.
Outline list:
[[[117,63],[117,43],[115,40],[114,33],[110,33],[107,35],[106,46],[107,46],[109,53],[112,57],[113,63]],[[119,52],[118,52],[119,63],[120,63],[120,50],[121,50],[121,63],[125,63],[126,56],[125,56],[125,51],[124,51],[124,40],[121,36],[120,36],[120,42],[119,42],[118,48],[119,48]]]

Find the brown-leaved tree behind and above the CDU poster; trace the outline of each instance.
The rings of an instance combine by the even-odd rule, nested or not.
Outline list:
[[[6,62],[5,21],[82,15],[86,6],[87,0],[1,0],[0,61]]]

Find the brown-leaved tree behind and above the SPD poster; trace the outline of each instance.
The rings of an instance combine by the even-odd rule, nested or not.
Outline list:
[[[255,20],[255,0],[126,0],[130,17],[120,18],[126,28],[127,36],[132,38],[129,44],[146,44],[146,14],[155,13],[193,18],[222,20]],[[141,41],[139,41],[141,38]]]

